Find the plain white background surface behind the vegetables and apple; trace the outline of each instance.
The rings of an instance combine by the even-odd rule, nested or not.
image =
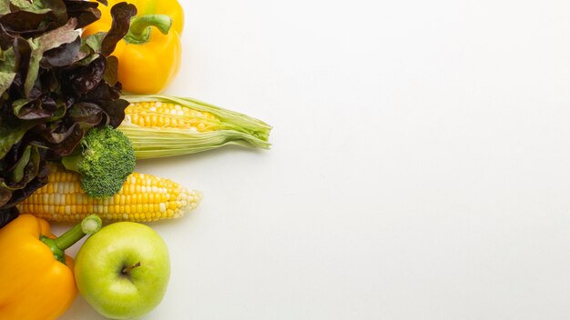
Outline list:
[[[273,146],[138,163],[205,194],[146,319],[570,318],[570,2],[183,5],[167,93]]]

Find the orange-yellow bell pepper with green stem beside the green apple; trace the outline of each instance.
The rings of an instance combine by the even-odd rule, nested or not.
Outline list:
[[[76,299],[65,249],[101,228],[97,215],[55,237],[46,220],[20,215],[0,229],[0,319],[56,319]]]

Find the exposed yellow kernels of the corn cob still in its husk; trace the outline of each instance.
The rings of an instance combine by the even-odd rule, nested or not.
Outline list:
[[[209,112],[161,101],[132,103],[125,109],[125,118],[133,125],[195,132],[214,131],[220,124],[216,115]]]

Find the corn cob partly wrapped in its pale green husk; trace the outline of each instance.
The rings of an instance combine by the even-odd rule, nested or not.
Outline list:
[[[222,145],[269,149],[271,126],[197,100],[166,95],[124,95],[130,102],[118,127],[137,159],[198,153]]]

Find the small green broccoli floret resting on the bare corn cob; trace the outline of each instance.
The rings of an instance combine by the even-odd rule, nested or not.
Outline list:
[[[77,153],[64,157],[62,164],[82,175],[81,187],[89,196],[117,194],[135,170],[133,145],[111,126],[89,130],[76,149]]]

